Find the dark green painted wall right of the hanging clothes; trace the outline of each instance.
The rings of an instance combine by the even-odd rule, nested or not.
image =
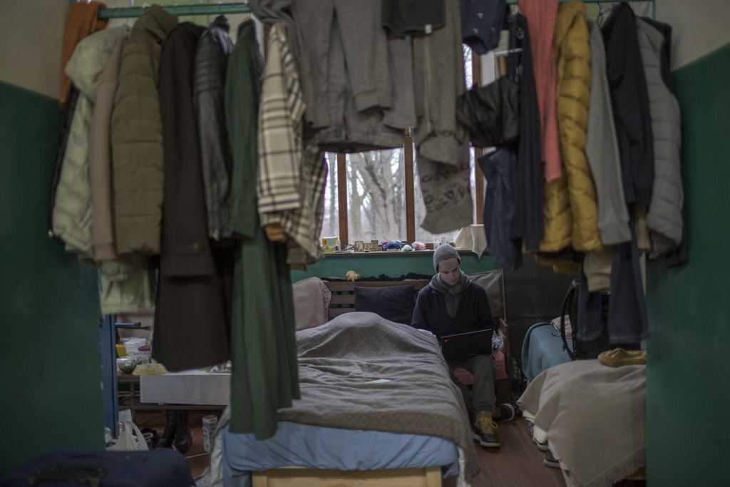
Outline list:
[[[728,485],[730,45],[674,73],[689,263],[648,266],[647,468],[652,486]]]

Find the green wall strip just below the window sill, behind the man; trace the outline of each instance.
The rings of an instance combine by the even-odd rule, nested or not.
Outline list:
[[[491,256],[484,255],[477,258],[473,252],[460,252],[461,269],[467,274],[484,272],[496,269],[497,264]],[[370,255],[336,254],[325,256],[317,264],[307,269],[307,272],[292,271],[291,280],[296,283],[306,277],[339,277],[345,279],[345,272],[352,269],[363,277],[378,277],[385,274],[388,277],[401,275],[424,274],[434,275],[434,253],[431,250],[420,252],[388,252]]]

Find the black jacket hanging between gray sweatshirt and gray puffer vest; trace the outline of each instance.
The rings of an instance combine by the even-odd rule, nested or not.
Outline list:
[[[621,154],[626,204],[648,208],[654,183],[654,148],[644,65],[634,12],[626,3],[613,8],[601,27],[606,75]]]

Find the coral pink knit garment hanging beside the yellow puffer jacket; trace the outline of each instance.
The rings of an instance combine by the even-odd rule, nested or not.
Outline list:
[[[553,34],[558,17],[558,0],[518,0],[520,12],[527,18],[532,49],[532,69],[540,112],[542,161],[545,180],[560,177],[560,145],[556,115],[556,61]]]

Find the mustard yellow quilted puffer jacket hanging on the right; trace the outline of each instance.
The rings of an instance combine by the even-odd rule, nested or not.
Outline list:
[[[543,252],[572,245],[590,252],[602,248],[596,188],[585,157],[591,96],[591,48],[585,4],[561,3],[553,45],[556,51],[558,133],[563,175],[545,183]]]

